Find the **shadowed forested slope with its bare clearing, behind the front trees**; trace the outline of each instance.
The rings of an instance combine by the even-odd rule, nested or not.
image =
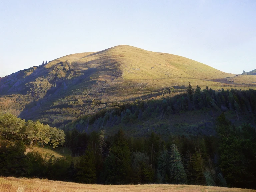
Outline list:
[[[107,131],[124,129],[134,137],[150,131],[166,137],[175,135],[216,135],[216,118],[225,113],[236,126],[250,123],[255,127],[256,91],[206,87],[195,89],[189,84],[186,92],[172,96],[173,89],[162,90],[162,98],[137,99],[113,103],[92,115],[81,115],[67,123],[63,130]],[[195,115],[196,114],[196,115]],[[111,132],[113,134],[113,131]]]

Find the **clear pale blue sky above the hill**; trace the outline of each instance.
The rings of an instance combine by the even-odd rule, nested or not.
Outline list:
[[[224,72],[256,68],[255,0],[0,1],[0,77],[132,45]]]

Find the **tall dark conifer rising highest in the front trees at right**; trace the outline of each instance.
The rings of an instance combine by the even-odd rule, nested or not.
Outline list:
[[[243,154],[243,138],[240,129],[231,125],[224,114],[217,118],[219,141],[219,167],[232,187],[244,187],[243,183],[248,174],[246,159]]]

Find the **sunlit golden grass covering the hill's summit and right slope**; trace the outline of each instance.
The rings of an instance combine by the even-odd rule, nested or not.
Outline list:
[[[109,83],[110,87],[118,85],[118,89],[111,94],[111,96],[115,95],[114,97],[124,95],[126,97],[127,95],[138,97],[143,93],[154,92],[167,87],[182,85],[187,87],[189,82],[193,87],[199,85],[201,88],[205,88],[207,85],[215,90],[221,88],[246,90],[251,88],[249,84],[256,82],[256,76],[253,75],[234,77],[234,74],[221,72],[185,57],[146,51],[128,45],[119,45],[99,52],[67,55],[48,63],[46,68],[66,60],[70,62],[70,68],[74,70],[110,66],[117,63],[118,67],[109,68],[109,70],[118,68],[122,71],[122,78],[110,81],[108,71],[101,71],[93,73],[91,80],[83,82],[84,87],[91,81],[105,81]],[[226,77],[230,78],[225,79]],[[216,81],[216,79],[220,80]],[[233,82],[229,83],[227,80]],[[74,89],[75,87],[72,88],[72,92]],[[108,94],[106,96],[109,97]],[[117,100],[119,99],[117,98]]]

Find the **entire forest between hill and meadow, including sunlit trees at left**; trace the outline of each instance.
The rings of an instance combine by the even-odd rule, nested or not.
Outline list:
[[[212,114],[214,123],[208,133],[207,126],[191,127],[189,134],[170,131],[165,137],[153,129],[137,137],[125,132],[126,126],[189,111]],[[238,121],[228,118],[230,115]],[[64,130],[1,114],[0,175],[79,183],[256,189],[255,115],[255,90],[201,90],[191,85],[186,93],[175,97],[110,106],[68,123]],[[106,134],[105,128],[114,125],[121,128],[115,134]],[[88,126],[95,130],[86,131]],[[29,146],[65,147],[71,155],[42,156],[27,152]]]

